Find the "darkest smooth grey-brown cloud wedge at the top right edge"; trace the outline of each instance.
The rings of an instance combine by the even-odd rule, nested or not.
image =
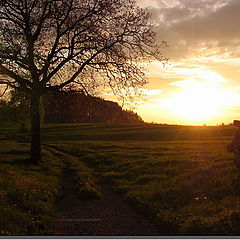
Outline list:
[[[240,1],[235,0],[208,15],[178,22],[170,29],[187,40],[238,40],[240,37],[239,13]]]

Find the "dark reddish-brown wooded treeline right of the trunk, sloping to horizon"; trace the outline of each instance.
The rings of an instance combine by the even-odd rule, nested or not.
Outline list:
[[[100,97],[69,92],[52,92],[44,97],[45,122],[50,123],[143,123],[133,111]]]

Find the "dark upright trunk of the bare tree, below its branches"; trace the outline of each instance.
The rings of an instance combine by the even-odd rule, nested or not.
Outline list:
[[[41,162],[40,95],[31,96],[31,163]]]

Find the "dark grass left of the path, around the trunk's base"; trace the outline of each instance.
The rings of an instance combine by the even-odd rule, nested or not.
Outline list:
[[[1,135],[0,235],[54,234],[54,204],[62,163],[43,149],[44,163],[28,163],[29,145]]]

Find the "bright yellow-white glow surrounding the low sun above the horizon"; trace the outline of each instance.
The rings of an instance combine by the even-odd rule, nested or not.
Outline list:
[[[231,109],[240,103],[240,95],[238,88],[229,84],[229,79],[220,73],[205,69],[188,69],[186,66],[182,71],[186,78],[165,83],[166,90],[161,88],[145,91],[147,100],[136,109],[145,121],[218,125],[240,119],[240,112],[231,112]],[[179,72],[174,74],[179,76]],[[154,92],[159,93],[155,98],[151,96]]]

